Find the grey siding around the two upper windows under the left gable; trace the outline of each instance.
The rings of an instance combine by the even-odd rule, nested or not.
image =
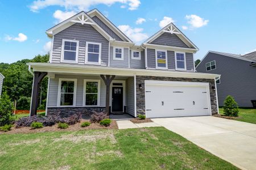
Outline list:
[[[70,27],[54,35],[52,48],[52,63],[61,62],[62,40],[78,40],[79,56],[78,63],[85,64],[85,44],[88,42],[101,43],[101,65],[107,66],[109,61],[109,41],[105,39],[96,29],[88,24],[73,24]]]

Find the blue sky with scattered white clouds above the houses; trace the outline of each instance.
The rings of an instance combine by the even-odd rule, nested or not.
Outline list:
[[[48,28],[76,12],[93,8],[137,44],[159,31],[160,25],[172,21],[199,47],[195,59],[203,58],[208,50],[235,54],[256,50],[253,0],[0,0],[0,62],[12,63],[47,53],[51,45],[45,33]]]

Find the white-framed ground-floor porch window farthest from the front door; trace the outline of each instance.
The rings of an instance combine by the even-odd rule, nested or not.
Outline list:
[[[76,101],[76,79],[59,79],[58,105],[74,106]]]

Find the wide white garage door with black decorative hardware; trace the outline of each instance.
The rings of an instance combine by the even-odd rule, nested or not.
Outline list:
[[[208,83],[145,80],[145,93],[149,118],[211,114]]]

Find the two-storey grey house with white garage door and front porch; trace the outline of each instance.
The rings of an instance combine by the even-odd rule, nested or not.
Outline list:
[[[34,71],[31,115],[48,76],[47,115],[92,112],[136,117],[217,114],[217,74],[195,73],[198,48],[174,24],[135,45],[100,11],[80,12],[46,31],[49,63]]]

